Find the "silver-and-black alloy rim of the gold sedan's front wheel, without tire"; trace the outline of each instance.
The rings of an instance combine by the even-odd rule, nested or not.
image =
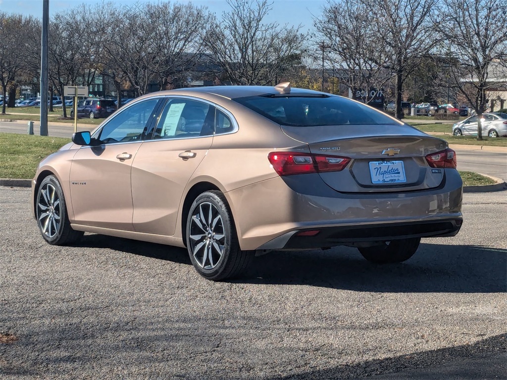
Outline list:
[[[60,197],[51,183],[46,183],[42,188],[37,208],[41,231],[47,238],[51,239],[58,234],[61,224]]]

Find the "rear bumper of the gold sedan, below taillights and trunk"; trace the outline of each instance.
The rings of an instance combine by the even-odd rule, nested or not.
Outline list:
[[[462,181],[456,170],[445,170],[441,186],[425,191],[339,193],[318,174],[305,174],[244,186],[226,197],[244,250],[454,236],[462,220]],[[305,231],[318,233],[298,236]]]

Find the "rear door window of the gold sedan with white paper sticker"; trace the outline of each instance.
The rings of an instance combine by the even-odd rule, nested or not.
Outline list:
[[[183,138],[213,134],[214,107],[191,99],[169,99],[154,138]]]

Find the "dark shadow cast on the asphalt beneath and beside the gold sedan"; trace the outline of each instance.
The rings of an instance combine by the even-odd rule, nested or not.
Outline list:
[[[103,235],[85,235],[78,247],[110,248],[191,265],[185,248]],[[507,250],[421,243],[406,262],[377,265],[355,248],[273,251],[253,258],[234,283],[292,284],[367,292],[497,293],[507,291]],[[196,276],[197,273],[195,274]]]

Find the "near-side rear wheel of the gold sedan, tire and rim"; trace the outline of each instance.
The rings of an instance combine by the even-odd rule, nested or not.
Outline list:
[[[194,200],[186,235],[190,260],[208,280],[239,276],[253,256],[253,252],[240,249],[232,213],[219,191],[204,192]]]

